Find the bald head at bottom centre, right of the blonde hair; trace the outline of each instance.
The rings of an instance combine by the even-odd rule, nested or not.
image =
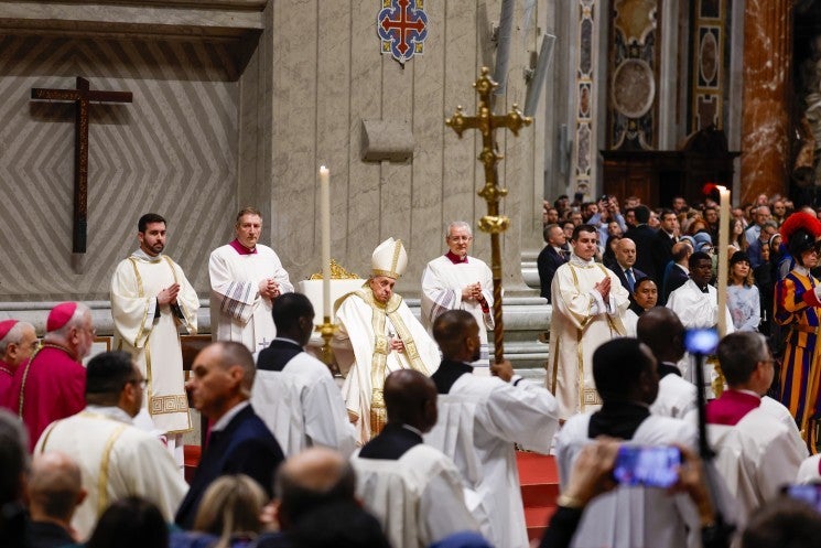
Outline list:
[[[338,501],[354,501],[356,475],[342,453],[314,447],[288,459],[277,470],[273,491],[278,519],[288,529],[307,512]]]

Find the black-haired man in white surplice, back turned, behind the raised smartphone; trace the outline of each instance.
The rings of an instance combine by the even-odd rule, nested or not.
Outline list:
[[[604,405],[592,415],[571,418],[559,432],[557,463],[562,490],[577,453],[599,436],[640,445],[680,443],[695,448],[698,432],[692,423],[650,415],[649,406],[658,393],[658,373],[646,345],[635,339],[603,344],[593,355],[593,374]],[[670,495],[653,487],[618,486],[587,505],[571,546],[694,546],[688,544],[689,530],[699,531],[700,522],[687,495]]]

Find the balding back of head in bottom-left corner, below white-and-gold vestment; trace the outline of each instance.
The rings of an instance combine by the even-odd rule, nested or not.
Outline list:
[[[60,452],[34,456],[29,479],[33,520],[52,518],[67,523],[84,496],[79,466],[69,456]]]

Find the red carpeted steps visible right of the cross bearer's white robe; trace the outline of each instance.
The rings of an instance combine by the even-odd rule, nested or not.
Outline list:
[[[555,511],[555,499],[559,498],[559,471],[555,468],[555,459],[517,451],[516,462],[519,466],[528,538],[541,538],[548,519]]]

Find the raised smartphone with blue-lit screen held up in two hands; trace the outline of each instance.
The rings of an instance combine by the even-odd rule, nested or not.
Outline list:
[[[613,476],[622,485],[669,487],[679,479],[681,451],[670,445],[622,445]]]

